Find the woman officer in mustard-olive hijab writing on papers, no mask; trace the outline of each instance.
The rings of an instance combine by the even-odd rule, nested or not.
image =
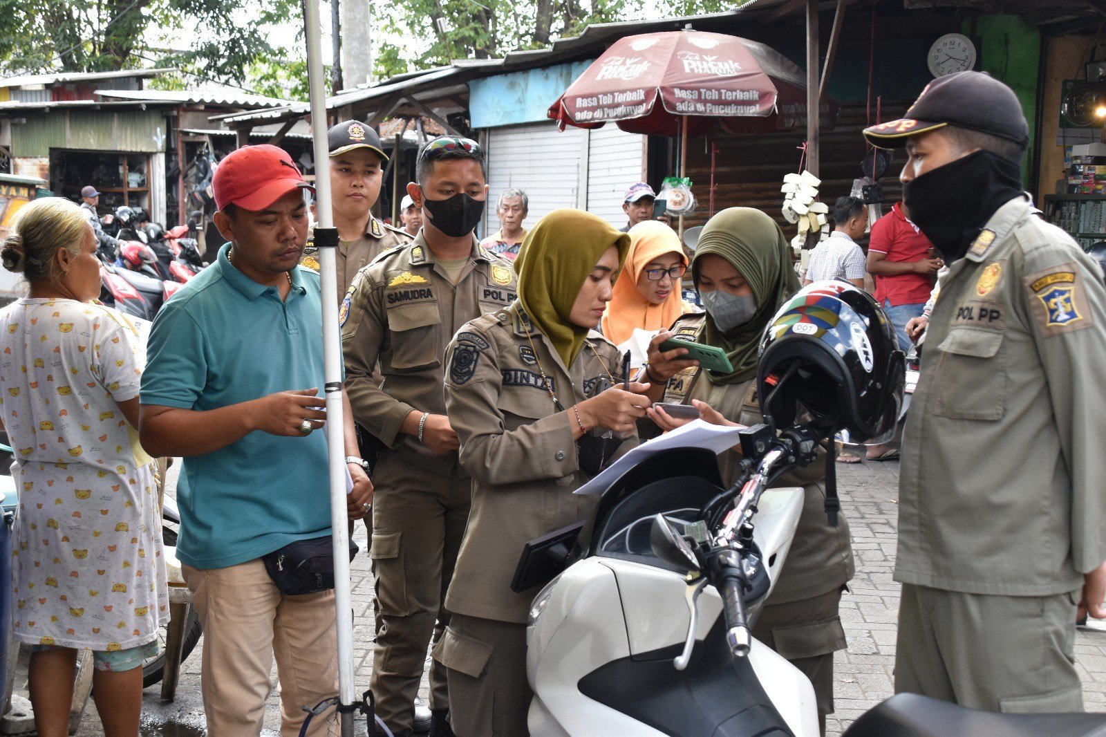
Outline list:
[[[649,402],[639,384],[623,390],[618,350],[592,330],[628,247],[594,215],[554,210],[515,261],[519,301],[450,343],[446,405],[476,482],[434,657],[448,668],[458,737],[528,734],[525,623],[539,587],[511,591],[519,557],[528,540],[586,518],[598,499],[573,489],[636,445]],[[588,460],[578,446],[602,445],[604,428],[614,445]]]

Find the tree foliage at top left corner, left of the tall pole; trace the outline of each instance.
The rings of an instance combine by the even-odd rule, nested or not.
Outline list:
[[[299,12],[296,0],[0,0],[0,74],[156,65],[241,84]]]

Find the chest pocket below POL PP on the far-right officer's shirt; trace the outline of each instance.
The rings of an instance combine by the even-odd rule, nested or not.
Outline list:
[[[941,374],[933,414],[951,419],[1002,419],[1006,414],[1005,333],[954,328],[937,346]]]

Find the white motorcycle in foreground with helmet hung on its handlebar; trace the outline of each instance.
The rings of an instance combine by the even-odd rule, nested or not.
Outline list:
[[[810,681],[751,636],[803,507],[801,488],[771,487],[842,428],[859,442],[889,432],[904,383],[879,307],[826,284],[802,290],[765,331],[763,424],[696,421],[630,450],[578,490],[602,495],[588,519],[526,544],[512,588],[552,578],[526,626],[535,737],[820,734]],[[742,460],[727,487],[716,456],[732,446]],[[983,714],[899,695],[845,736],[981,734],[1106,735],[1106,715]]]

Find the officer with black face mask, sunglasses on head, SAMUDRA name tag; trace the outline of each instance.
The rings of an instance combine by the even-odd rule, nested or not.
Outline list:
[[[468,142],[476,153],[452,150],[445,147],[450,141],[467,139],[428,144],[419,154],[419,184],[408,187],[431,212],[421,232],[359,271],[340,310],[354,417],[384,446],[374,468],[371,556],[378,631],[372,688],[377,714],[395,734],[411,728],[435,622],[448,622],[441,602],[471,499],[471,479],[457,463],[456,435],[445,417],[446,345],[462,324],[503,309],[515,295],[510,263],[478,247],[474,222],[450,219],[459,210],[444,205],[449,199],[430,199],[442,183],[456,186],[461,177],[473,179],[474,194],[486,193],[479,147]],[[431,148],[439,142],[442,147]],[[462,195],[465,203],[482,204]],[[467,217],[477,209],[467,205]],[[457,253],[462,258],[441,258]],[[377,365],[379,384],[372,376]],[[446,734],[440,667],[431,666],[430,681],[435,728]]]

